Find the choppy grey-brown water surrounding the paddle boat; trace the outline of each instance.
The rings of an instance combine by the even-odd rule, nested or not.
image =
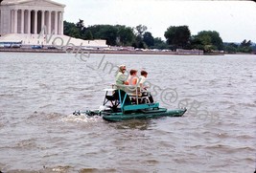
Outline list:
[[[117,123],[73,116],[103,103],[111,64],[146,69],[163,107],[189,111]],[[253,172],[255,67],[255,55],[0,53],[0,171]]]

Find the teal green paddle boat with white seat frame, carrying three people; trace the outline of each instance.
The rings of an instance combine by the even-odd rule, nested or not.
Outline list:
[[[149,92],[148,92],[149,93]],[[115,86],[105,89],[103,109],[75,111],[73,115],[101,116],[108,121],[121,121],[127,119],[154,119],[161,117],[181,117],[186,108],[168,110],[159,107],[159,102],[151,102],[146,92],[142,94],[134,86]]]

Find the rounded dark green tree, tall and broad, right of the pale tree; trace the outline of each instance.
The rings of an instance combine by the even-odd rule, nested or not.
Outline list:
[[[173,49],[177,49],[188,46],[191,32],[188,26],[171,26],[164,35],[167,39],[167,43],[171,45]]]

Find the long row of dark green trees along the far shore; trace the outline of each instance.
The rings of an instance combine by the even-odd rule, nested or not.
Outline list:
[[[192,35],[188,26],[170,26],[164,36],[153,37],[148,28],[138,25],[134,28],[125,25],[93,25],[85,27],[83,20],[77,23],[64,21],[64,34],[84,40],[105,39],[110,46],[132,46],[139,49],[198,49],[205,53],[226,51],[228,53],[251,53],[251,41],[241,44],[223,43],[220,33],[202,31]]]

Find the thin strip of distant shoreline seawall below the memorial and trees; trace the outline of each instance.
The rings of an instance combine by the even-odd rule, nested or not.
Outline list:
[[[58,53],[64,54],[66,51],[59,49],[31,49],[31,48],[0,48],[0,53]],[[72,52],[72,50],[68,51]],[[84,50],[74,54],[173,54],[173,55],[204,55],[197,52],[191,53],[179,53],[179,52],[162,52],[162,51],[110,51],[110,50]],[[222,54],[221,54],[222,55]]]

